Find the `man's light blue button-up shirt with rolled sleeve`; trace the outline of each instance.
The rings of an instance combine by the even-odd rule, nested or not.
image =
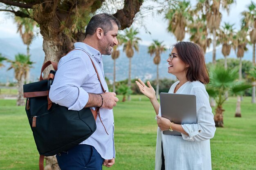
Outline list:
[[[49,98],[52,102],[66,106],[69,110],[81,110],[88,102],[88,93],[103,93],[90,57],[97,68],[103,88],[107,92],[108,86],[104,77],[101,53],[83,42],[76,42],[74,46],[75,49],[81,50],[71,51],[61,58],[49,91]],[[97,130],[81,144],[94,146],[102,158],[112,159],[115,158],[113,110],[100,108],[100,113],[109,135],[98,115]]]

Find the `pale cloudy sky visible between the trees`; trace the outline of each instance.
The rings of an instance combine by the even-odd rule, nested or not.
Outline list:
[[[192,6],[194,6],[196,0],[191,0]],[[235,28],[239,29],[241,25],[241,12],[247,9],[247,6],[251,3],[251,0],[236,0],[236,4],[231,5],[231,10],[229,15],[225,11],[222,13],[222,22],[229,22],[230,24],[235,24]],[[151,33],[146,33],[144,27],[141,27],[139,24],[141,21],[135,21],[132,25],[139,30],[139,38],[141,38],[140,44],[150,45],[153,40],[164,41],[166,47],[172,46],[175,42],[175,36],[167,31],[168,21],[164,19],[164,15],[155,15],[152,17],[150,14],[143,19],[143,23],[146,26],[147,30]],[[5,15],[4,12],[0,11],[0,38],[20,38],[20,35],[17,33],[17,26],[13,23],[13,19]],[[189,41],[189,36],[186,35],[184,41]],[[33,46],[38,46],[43,42],[42,36],[38,35],[36,40],[31,44]],[[207,51],[211,51],[208,49]]]

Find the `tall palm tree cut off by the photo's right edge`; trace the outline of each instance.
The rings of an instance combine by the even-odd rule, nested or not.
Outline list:
[[[253,44],[252,63],[255,66],[255,44],[256,44],[256,3],[251,2],[247,11],[242,12],[242,25],[249,30],[251,43]]]

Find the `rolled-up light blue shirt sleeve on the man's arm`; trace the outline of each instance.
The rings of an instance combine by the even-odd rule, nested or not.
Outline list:
[[[88,68],[81,57],[64,56],[58,63],[49,98],[69,110],[83,109],[89,99],[89,94],[81,88],[87,76],[89,76]]]

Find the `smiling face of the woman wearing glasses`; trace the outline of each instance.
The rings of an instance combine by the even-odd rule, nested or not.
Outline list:
[[[185,64],[181,59],[180,55],[177,53],[175,47],[171,51],[171,56],[169,55],[167,62],[169,64],[168,73],[171,73],[179,78],[179,76],[186,76],[186,67],[188,64]]]

